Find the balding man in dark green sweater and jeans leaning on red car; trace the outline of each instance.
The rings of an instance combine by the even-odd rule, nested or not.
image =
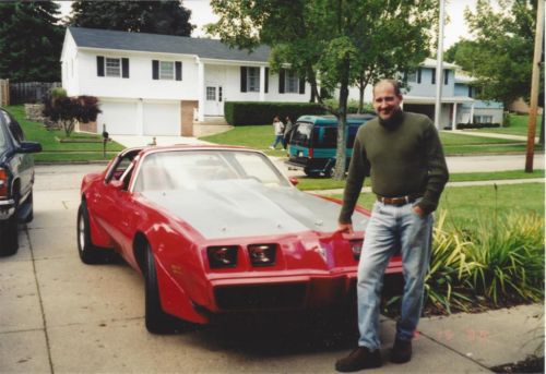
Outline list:
[[[335,369],[353,372],[382,365],[379,303],[384,269],[400,243],[404,274],[401,316],[390,361],[412,359],[412,338],[420,317],[432,236],[432,212],[449,179],[438,132],[430,119],[401,109],[396,81],[373,87],[378,118],[358,129],[339,218],[339,231],[353,232],[351,217],[367,172],[377,194],[358,264],[360,338]]]

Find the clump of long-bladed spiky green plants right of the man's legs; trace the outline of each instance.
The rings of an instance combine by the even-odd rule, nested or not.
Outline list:
[[[436,312],[466,311],[544,298],[544,218],[512,213],[480,217],[464,231],[444,228],[446,213],[434,229],[425,301]]]

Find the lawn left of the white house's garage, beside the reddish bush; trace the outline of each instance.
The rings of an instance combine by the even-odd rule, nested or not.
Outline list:
[[[43,123],[33,122],[25,119],[25,109],[23,106],[8,106],[5,108],[21,124],[23,132],[28,141],[39,142],[43,152],[36,154],[36,161],[66,162],[66,161],[85,161],[85,160],[105,160],[103,157],[103,142],[100,135],[72,133],[71,138],[79,141],[74,143],[60,142],[64,138],[64,131],[48,131]],[[85,143],[83,140],[92,142]],[[99,141],[99,142],[96,142]],[[106,159],[124,147],[116,142],[108,142]]]

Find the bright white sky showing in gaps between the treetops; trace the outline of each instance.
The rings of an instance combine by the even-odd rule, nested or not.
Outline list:
[[[447,0],[446,14],[450,23],[444,26],[443,49],[447,50],[461,37],[470,38],[467,26],[464,21],[464,10],[466,7],[474,9],[477,0]],[[71,1],[57,1],[61,5],[61,13],[67,15],[70,12]],[[209,0],[182,0],[185,8],[191,10],[190,23],[197,25],[191,36],[206,36],[203,26],[215,22],[217,16],[212,12]]]

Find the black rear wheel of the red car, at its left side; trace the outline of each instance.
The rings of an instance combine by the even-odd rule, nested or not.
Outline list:
[[[84,264],[104,264],[112,260],[112,252],[93,245],[90,231],[90,216],[85,202],[80,204],[78,209],[76,224],[78,253]]]

